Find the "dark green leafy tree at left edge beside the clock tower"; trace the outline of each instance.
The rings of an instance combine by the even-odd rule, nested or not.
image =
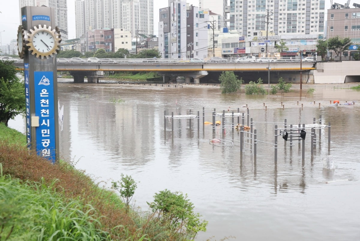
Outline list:
[[[25,114],[24,83],[16,76],[12,61],[0,61],[0,122]]]

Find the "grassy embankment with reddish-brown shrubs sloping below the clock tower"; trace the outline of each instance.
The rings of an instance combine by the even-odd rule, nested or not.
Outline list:
[[[184,240],[152,214],[126,212],[118,195],[25,143],[0,123],[0,240]]]

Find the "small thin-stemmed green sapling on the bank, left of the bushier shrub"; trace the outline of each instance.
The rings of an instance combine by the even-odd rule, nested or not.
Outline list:
[[[129,211],[130,201],[134,196],[137,185],[131,176],[124,176],[121,173],[121,180],[117,182],[111,182],[111,188],[117,190],[120,193],[122,200],[125,203],[126,211]]]

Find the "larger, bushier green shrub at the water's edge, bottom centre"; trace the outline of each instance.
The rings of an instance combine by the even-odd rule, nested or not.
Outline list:
[[[201,220],[202,216],[194,212],[194,204],[187,194],[184,196],[180,192],[172,193],[165,189],[155,193],[154,201],[148,205],[161,223],[170,223],[187,240],[194,240],[198,232],[206,231],[208,222]]]

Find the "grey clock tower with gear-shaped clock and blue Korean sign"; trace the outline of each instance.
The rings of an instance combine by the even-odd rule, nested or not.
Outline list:
[[[54,8],[21,8],[18,50],[24,59],[26,137],[29,149],[55,163],[59,159],[56,54],[60,34]]]

